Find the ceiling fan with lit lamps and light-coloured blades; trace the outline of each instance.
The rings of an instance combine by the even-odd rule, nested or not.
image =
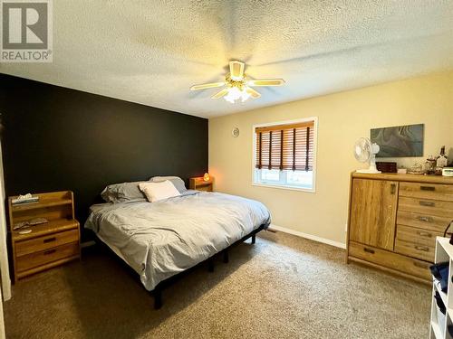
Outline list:
[[[250,80],[244,73],[245,68],[246,64],[244,62],[230,61],[229,73],[226,73],[225,81],[194,85],[190,88],[190,90],[212,89],[216,87],[226,86],[225,89],[222,89],[214,94],[211,99],[224,98],[226,99],[226,101],[234,104],[237,99],[241,99],[242,102],[244,102],[249,98],[257,99],[261,97],[261,94],[258,93],[255,89],[252,89],[252,87],[281,86],[284,84],[283,79]]]

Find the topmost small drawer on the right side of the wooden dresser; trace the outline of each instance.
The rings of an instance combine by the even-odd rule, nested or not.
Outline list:
[[[400,196],[453,202],[453,185],[400,183]]]

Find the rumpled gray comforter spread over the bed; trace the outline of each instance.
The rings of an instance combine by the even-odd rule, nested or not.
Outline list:
[[[269,223],[261,202],[195,193],[160,202],[96,205],[85,228],[117,250],[151,290]]]

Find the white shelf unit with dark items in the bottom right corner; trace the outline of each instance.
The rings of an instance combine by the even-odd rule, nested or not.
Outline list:
[[[443,292],[440,288],[439,280],[433,277],[432,294],[431,294],[431,325],[429,330],[429,338],[443,339],[450,338],[447,326],[453,325],[451,318],[453,316],[453,245],[450,245],[449,238],[438,237],[436,239],[436,252],[434,263],[449,262],[448,270],[448,290]],[[436,303],[434,295],[439,292],[440,297],[447,309],[446,314],[442,314]],[[447,316],[448,315],[448,316]]]

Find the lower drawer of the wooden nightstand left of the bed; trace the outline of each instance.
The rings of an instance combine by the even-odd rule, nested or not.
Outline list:
[[[30,268],[36,268],[49,262],[76,255],[79,255],[79,242],[72,242],[63,246],[54,247],[50,250],[26,254],[22,257],[16,258],[15,263],[17,271],[21,272]]]

